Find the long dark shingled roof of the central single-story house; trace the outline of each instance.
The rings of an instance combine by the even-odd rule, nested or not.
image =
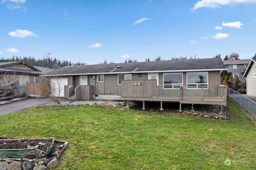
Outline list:
[[[191,72],[210,70],[227,70],[227,68],[221,59],[211,58],[64,66],[58,70],[48,72],[47,75],[68,76],[89,74],[128,74],[146,72]]]

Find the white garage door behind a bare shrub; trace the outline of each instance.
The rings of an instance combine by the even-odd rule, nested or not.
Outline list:
[[[64,86],[68,85],[68,78],[52,78],[51,86],[52,86],[52,95],[64,97]]]

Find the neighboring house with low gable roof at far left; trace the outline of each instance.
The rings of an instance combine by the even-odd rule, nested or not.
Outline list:
[[[41,71],[42,70],[42,71]],[[12,83],[19,91],[26,92],[26,84],[38,82],[39,75],[52,71],[44,67],[35,67],[25,61],[0,63],[0,84]]]

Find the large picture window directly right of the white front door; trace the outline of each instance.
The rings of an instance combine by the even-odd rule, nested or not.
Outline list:
[[[163,74],[164,88],[180,88],[183,85],[182,72],[168,72]]]

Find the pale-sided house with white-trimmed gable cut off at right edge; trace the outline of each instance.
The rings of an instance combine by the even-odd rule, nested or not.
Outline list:
[[[244,76],[246,79],[246,95],[256,97],[256,59],[251,59]]]

